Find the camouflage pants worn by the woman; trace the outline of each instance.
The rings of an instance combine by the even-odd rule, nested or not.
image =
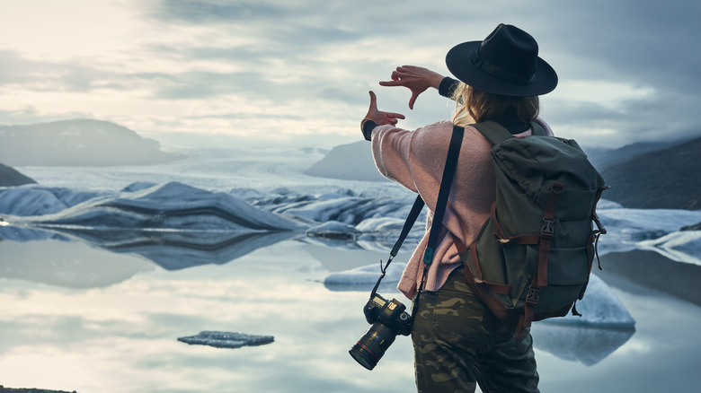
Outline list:
[[[413,322],[420,393],[538,392],[532,340],[513,337],[465,283],[462,268],[437,292],[421,293]]]

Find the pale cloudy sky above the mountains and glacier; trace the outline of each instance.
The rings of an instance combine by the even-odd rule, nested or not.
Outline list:
[[[413,129],[452,102],[381,87],[499,23],[558,73],[541,97],[583,146],[701,136],[701,3],[693,0],[0,0],[0,125],[94,118],[217,144],[360,140],[368,91]]]

